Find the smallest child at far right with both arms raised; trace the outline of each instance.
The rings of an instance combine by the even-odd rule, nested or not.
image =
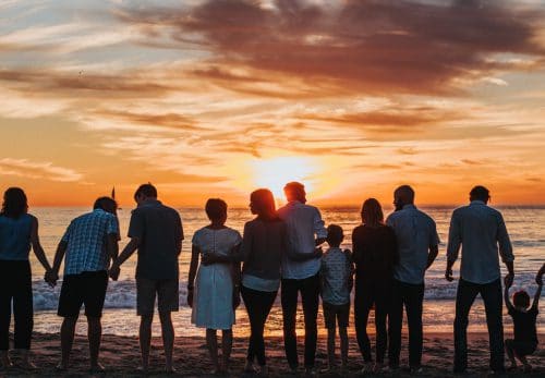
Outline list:
[[[537,347],[535,322],[543,282],[537,285],[532,307],[530,307],[530,295],[524,290],[520,290],[513,294],[513,303],[511,304],[507,282],[505,286],[504,297],[509,315],[512,317],[514,333],[514,339],[506,340],[506,352],[511,362],[510,369],[517,368],[517,361],[514,359],[517,357],[523,364],[524,371],[530,371],[532,366],[528,363],[526,356],[534,353]],[[530,309],[528,309],[529,307]]]

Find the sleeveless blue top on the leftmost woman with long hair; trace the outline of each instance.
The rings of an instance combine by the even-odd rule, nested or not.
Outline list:
[[[0,260],[28,260],[33,219],[29,214],[17,219],[0,216]]]

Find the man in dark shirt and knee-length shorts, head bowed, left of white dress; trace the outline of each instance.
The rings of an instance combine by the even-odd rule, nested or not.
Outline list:
[[[152,321],[157,296],[166,370],[173,373],[174,329],[170,313],[179,307],[178,256],[182,251],[182,221],[177,210],[157,200],[157,190],[152,184],[141,185],[134,193],[134,200],[137,207],[129,225],[131,241],[113,263],[110,276],[118,277],[121,264],[138,249],[136,312],[141,316],[142,370],[147,371],[149,366]]]

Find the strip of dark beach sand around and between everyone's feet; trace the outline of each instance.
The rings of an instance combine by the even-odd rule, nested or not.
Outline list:
[[[488,343],[486,333],[470,333],[469,334],[469,364],[470,370],[467,376],[482,377],[488,374]],[[542,344],[545,342],[545,334],[540,334]],[[247,340],[245,338],[235,338],[233,342],[232,364],[230,377],[251,376],[243,373],[244,357],[246,352]],[[279,337],[269,337],[266,340],[268,365],[270,376],[281,377],[289,374],[288,366],[283,354],[282,339]],[[302,339],[300,339],[302,345]],[[404,336],[403,345],[407,345],[407,336]],[[185,377],[202,377],[211,376],[213,367],[208,361],[208,355],[205,346],[204,337],[178,337],[174,346],[174,365],[178,370],[177,376]],[[88,367],[88,350],[86,339],[77,336],[74,350],[72,367],[64,373],[59,373],[55,369],[56,364],[60,358],[59,337],[57,334],[35,334],[33,344],[34,362],[38,369],[28,373],[19,368],[12,368],[8,371],[2,371],[2,377],[16,376],[92,376]],[[300,356],[302,349],[300,349]],[[428,333],[425,334],[424,341],[424,370],[419,376],[426,377],[450,377],[452,368],[452,336],[451,333]],[[106,376],[126,377],[138,376],[136,367],[140,362],[138,341],[135,337],[119,337],[106,334],[102,340],[100,359],[107,368]],[[13,356],[16,363],[16,355]],[[326,366],[326,340],[323,336],[318,340],[317,366],[324,368]],[[407,361],[407,350],[403,347],[401,355],[402,364]],[[529,358],[533,365],[532,374],[523,374],[522,370],[509,371],[506,377],[513,376],[534,376],[543,377],[545,375],[545,350],[537,350],[533,356]],[[162,349],[161,340],[154,338],[152,350],[152,376],[162,376]],[[362,367],[362,359],[358,350],[355,338],[350,339],[350,363],[349,371],[344,376],[358,376]],[[301,370],[302,375],[302,370]],[[340,377],[341,374],[320,374],[323,377]],[[382,374],[387,377],[403,377],[410,376],[408,371],[400,369],[395,374]],[[413,375],[414,376],[414,375]]]

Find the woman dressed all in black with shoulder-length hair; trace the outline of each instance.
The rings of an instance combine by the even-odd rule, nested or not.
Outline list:
[[[387,346],[386,317],[391,298],[393,266],[399,260],[396,234],[384,224],[380,204],[366,199],[362,207],[362,223],[352,233],[352,258],[355,264],[354,322],[358,344],[365,363],[364,370],[377,373],[384,364]],[[375,305],[376,364],[371,366],[371,343],[367,319]]]

